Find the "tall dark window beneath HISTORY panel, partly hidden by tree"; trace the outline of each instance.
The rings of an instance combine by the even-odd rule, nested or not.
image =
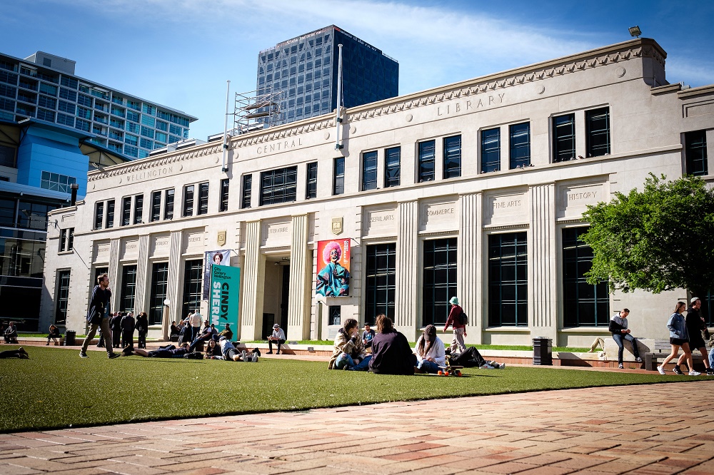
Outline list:
[[[580,240],[588,228],[563,230],[563,325],[565,327],[607,327],[610,323],[608,281],[596,285],[585,282],[585,272],[593,267],[593,250]]]

